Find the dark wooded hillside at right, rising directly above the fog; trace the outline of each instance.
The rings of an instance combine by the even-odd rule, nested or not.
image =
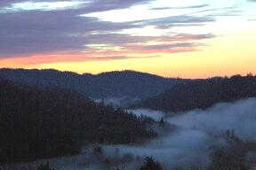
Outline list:
[[[256,97],[256,77],[236,75],[229,79],[216,78],[183,83],[156,97],[142,101],[136,107],[184,112],[247,97]]]

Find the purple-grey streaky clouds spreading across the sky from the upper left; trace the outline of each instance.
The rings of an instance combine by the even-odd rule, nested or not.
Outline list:
[[[10,6],[18,2],[20,3],[20,1],[15,0],[2,0],[0,9],[1,7]],[[44,2],[53,1],[48,0]],[[129,53],[132,50],[165,49],[167,52],[173,48],[195,50],[197,46],[204,44],[191,41],[214,37],[212,34],[182,35],[172,33],[164,36],[139,36],[120,33],[124,29],[147,26],[166,29],[170,27],[204,25],[207,22],[213,22],[214,19],[212,17],[175,16],[122,23],[102,21],[90,17],[77,17],[79,14],[122,9],[148,2],[148,0],[94,0],[91,4],[82,5],[76,9],[1,13],[0,58],[28,57],[43,53],[72,55],[98,53],[97,49],[89,45],[105,44],[107,50],[102,51],[108,51],[109,56],[106,56],[106,58],[116,57],[120,59],[125,58],[120,51],[124,51],[125,54],[125,51]],[[204,5],[197,6],[197,8],[204,7]],[[196,6],[193,6],[193,8],[196,8]],[[147,45],[147,42],[158,42],[159,44]],[[134,43],[142,43],[143,45],[136,46]],[[111,46],[116,46],[119,50],[108,50]],[[111,52],[114,54],[116,52],[117,55],[111,55]],[[101,57],[94,58],[100,59]]]

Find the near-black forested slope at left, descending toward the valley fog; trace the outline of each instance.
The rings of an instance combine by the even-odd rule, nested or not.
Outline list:
[[[75,154],[86,143],[133,143],[152,120],[76,92],[0,79],[0,163]]]

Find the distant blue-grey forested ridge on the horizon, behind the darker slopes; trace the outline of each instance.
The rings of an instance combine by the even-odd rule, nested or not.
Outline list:
[[[44,88],[73,89],[92,98],[153,97],[180,82],[189,80],[164,78],[134,71],[109,72],[93,75],[57,70],[0,69],[0,76]]]

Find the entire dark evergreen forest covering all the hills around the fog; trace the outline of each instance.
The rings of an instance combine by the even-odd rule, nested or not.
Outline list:
[[[154,90],[150,92],[151,89]],[[256,97],[256,76],[181,80],[133,71],[80,75],[55,70],[0,69],[0,165],[77,155],[89,144],[140,143],[158,136],[151,129],[156,127],[174,132],[163,118],[156,124],[147,116],[137,117],[120,107],[97,104],[88,98],[109,97],[111,93],[115,97],[144,98],[133,108],[186,112]],[[251,170],[254,163],[248,163],[248,155],[256,151],[256,143],[239,138],[233,130],[220,138],[228,147],[217,145],[205,170]],[[108,167],[116,164],[102,155],[100,147],[94,150],[101,152],[97,161]],[[120,158],[123,163],[127,161]],[[172,170],[160,162],[161,159],[145,155],[138,168]],[[58,170],[54,168],[41,164],[37,170]],[[198,169],[200,165],[189,170]]]

